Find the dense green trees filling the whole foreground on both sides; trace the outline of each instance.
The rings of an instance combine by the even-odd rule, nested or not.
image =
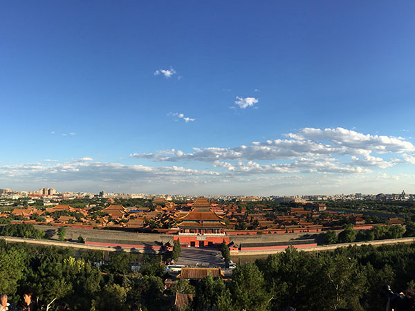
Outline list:
[[[75,256],[76,255],[76,256]],[[71,310],[174,310],[176,292],[195,294],[189,310],[298,311],[384,310],[379,292],[389,283],[395,292],[415,285],[415,245],[371,245],[306,253],[295,249],[255,263],[238,265],[230,281],[208,276],[196,283],[178,280],[165,289],[167,278],[159,256],[141,258],[139,272],[131,272],[136,254],[115,252],[103,261],[102,252],[75,254],[73,249],[30,247],[0,240],[0,292],[16,302],[27,288],[40,305],[53,299]],[[101,266],[97,264],[103,263]]]

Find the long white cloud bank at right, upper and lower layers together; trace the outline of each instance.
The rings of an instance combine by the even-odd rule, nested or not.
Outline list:
[[[369,167],[385,169],[403,162],[396,157],[389,160],[383,158],[386,153],[415,163],[415,156],[403,153],[414,151],[414,145],[403,138],[363,134],[342,128],[306,128],[288,133],[286,137],[237,147],[194,147],[189,153],[173,149],[169,152],[133,153],[130,156],[168,162],[210,162],[213,167],[234,173],[362,173],[370,172]],[[260,163],[270,161],[280,163]]]

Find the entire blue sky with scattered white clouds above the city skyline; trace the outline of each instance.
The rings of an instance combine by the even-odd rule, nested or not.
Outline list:
[[[415,193],[413,1],[1,1],[0,188]]]

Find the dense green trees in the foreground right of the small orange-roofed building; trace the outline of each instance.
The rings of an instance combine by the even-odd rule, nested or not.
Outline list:
[[[239,265],[227,283],[196,284],[191,310],[385,310],[380,288],[413,288],[415,245],[348,247],[311,254],[287,249]]]

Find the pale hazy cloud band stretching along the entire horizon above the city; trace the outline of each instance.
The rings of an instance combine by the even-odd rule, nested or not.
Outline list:
[[[218,161],[213,165],[225,170],[91,161],[15,164],[0,166],[0,182],[21,190],[48,185],[62,191],[105,189],[108,192],[193,195],[377,194],[396,193],[407,185],[414,185],[413,175],[370,173],[368,169],[351,167],[333,158],[299,158],[284,164]]]

